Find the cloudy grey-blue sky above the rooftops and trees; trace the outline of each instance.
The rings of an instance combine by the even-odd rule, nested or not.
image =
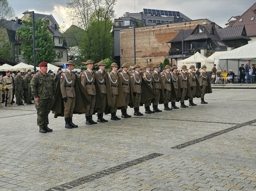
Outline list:
[[[59,24],[64,22],[66,27],[72,24],[65,14],[66,0],[9,0],[9,3],[19,18],[22,17],[22,12],[29,10],[52,14]],[[231,16],[243,14],[254,3],[255,0],[117,0],[114,10],[117,18],[124,12],[142,12],[143,8],[180,11],[193,20],[207,18],[225,27]]]

